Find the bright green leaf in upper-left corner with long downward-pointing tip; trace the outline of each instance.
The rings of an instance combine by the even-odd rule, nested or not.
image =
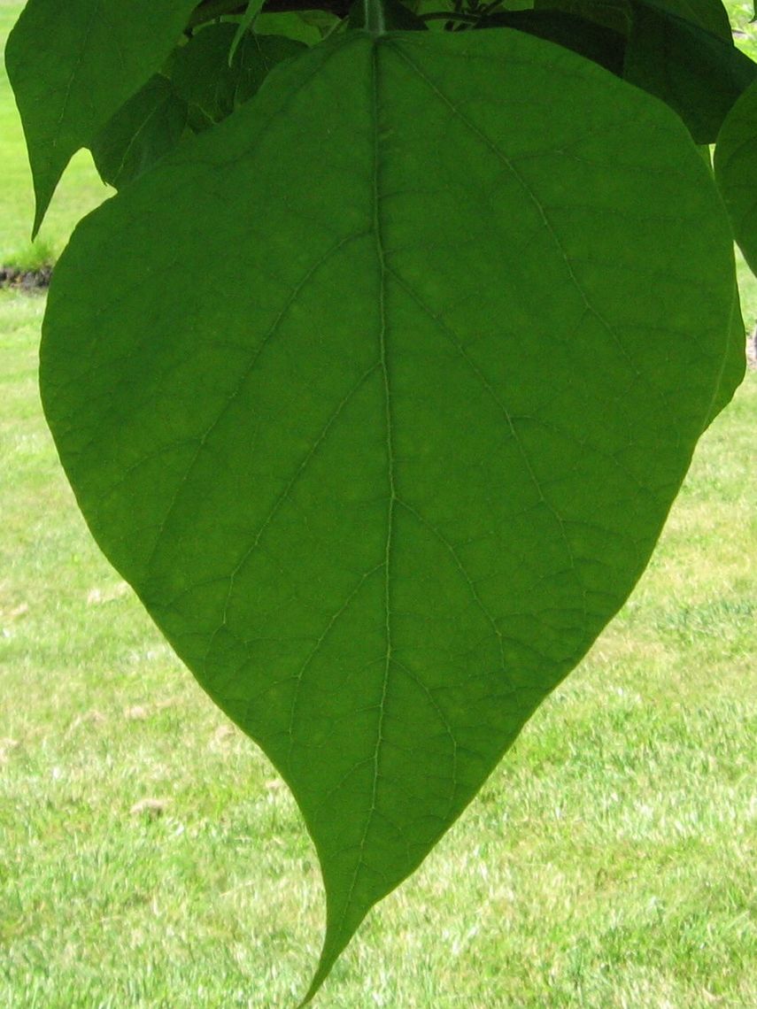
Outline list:
[[[28,0],[5,63],[34,179],[32,237],[72,155],[160,68],[195,0]]]

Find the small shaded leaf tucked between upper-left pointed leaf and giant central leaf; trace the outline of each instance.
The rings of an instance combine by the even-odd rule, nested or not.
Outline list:
[[[175,94],[170,81],[156,74],[92,141],[100,178],[120,189],[175,147],[186,126],[187,103]]]

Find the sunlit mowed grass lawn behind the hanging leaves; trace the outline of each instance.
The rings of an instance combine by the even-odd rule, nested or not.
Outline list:
[[[30,188],[4,79],[0,170],[10,254]],[[80,156],[53,251],[102,195]],[[293,1006],[313,849],[89,538],[38,404],[43,309],[0,292],[0,1007]],[[751,372],[623,612],[317,1005],[757,1006],[756,457]]]

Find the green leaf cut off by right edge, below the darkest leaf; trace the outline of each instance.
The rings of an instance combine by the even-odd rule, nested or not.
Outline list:
[[[723,123],[715,148],[715,178],[739,248],[757,273],[757,82]]]

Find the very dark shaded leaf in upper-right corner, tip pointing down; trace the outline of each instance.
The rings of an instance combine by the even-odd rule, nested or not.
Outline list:
[[[714,143],[723,120],[757,75],[733,40],[635,2],[624,77],[674,109],[696,143]]]

